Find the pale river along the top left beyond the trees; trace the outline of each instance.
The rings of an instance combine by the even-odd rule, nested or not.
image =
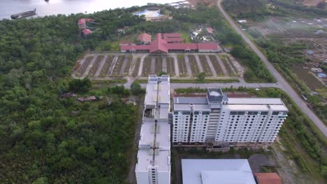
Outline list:
[[[0,0],[0,20],[36,8],[36,16],[94,13],[114,8],[144,6],[147,3],[172,3],[178,0]]]

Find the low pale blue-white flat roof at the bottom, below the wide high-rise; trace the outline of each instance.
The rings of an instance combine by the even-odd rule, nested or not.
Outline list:
[[[256,184],[246,159],[182,159],[184,184]]]

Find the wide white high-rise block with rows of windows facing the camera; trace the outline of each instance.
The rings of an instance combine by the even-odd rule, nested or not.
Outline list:
[[[221,89],[175,97],[173,144],[271,143],[287,112],[280,98],[228,98]]]

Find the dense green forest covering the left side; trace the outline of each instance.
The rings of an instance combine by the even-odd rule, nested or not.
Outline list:
[[[85,15],[0,22],[1,183],[124,182],[137,108],[68,76],[82,52],[144,22],[131,10],[89,15],[101,32],[86,40],[77,25]],[[112,102],[61,98],[71,91]]]

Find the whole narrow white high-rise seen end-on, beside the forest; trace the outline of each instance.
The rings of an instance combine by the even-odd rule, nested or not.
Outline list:
[[[145,95],[145,111],[138,145],[138,184],[170,183],[169,76],[150,75]]]

